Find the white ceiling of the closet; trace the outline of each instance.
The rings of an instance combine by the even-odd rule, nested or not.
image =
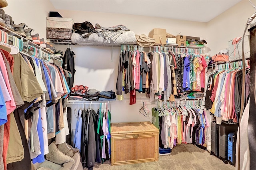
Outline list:
[[[241,0],[50,0],[57,10],[84,10],[209,22]]]

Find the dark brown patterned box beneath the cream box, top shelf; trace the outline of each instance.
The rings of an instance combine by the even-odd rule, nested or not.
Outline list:
[[[71,40],[72,29],[46,28],[46,38],[55,40]]]

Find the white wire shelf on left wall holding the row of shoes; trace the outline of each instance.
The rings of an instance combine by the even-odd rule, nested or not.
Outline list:
[[[24,38],[24,37],[22,37],[22,36],[20,36],[20,35],[16,34],[15,32],[12,32],[12,31],[11,31],[11,30],[9,30],[8,28],[5,28],[5,27],[3,27],[3,26],[1,26],[1,25],[0,25],[0,30],[2,30],[2,31],[4,31],[4,32],[6,32],[8,35],[12,35],[12,36],[14,36],[14,37],[19,38],[19,39],[21,39],[21,40],[22,40],[22,42],[24,42],[24,43],[28,43],[28,45],[34,46],[34,47],[36,47],[37,49],[40,49],[40,50],[44,51],[45,53],[50,54],[50,56],[51,56],[51,57],[54,57],[54,58],[59,59],[59,60],[61,60],[61,61],[62,61],[62,58],[60,58],[60,57],[58,57],[58,56],[54,55],[53,53],[50,53],[50,52],[49,52],[49,51],[47,51],[46,49],[44,49],[44,48],[40,47],[39,45],[36,45],[35,43],[33,43],[33,42],[29,41],[28,39],[26,39],[26,38]]]

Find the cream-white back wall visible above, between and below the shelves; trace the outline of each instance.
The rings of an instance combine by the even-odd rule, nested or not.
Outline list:
[[[72,18],[74,22],[89,21],[93,25],[96,23],[103,27],[115,26],[123,24],[136,34],[146,34],[153,28],[166,28],[166,32],[170,34],[181,34],[204,37],[206,32],[206,23],[189,22],[180,20],[171,20],[167,18],[154,18],[146,16],[133,16],[126,14],[110,14],[100,12],[84,12],[84,11],[67,11],[58,10],[58,12],[67,18]],[[139,24],[138,24],[139,23]],[[189,28],[188,28],[189,26]],[[63,51],[67,45],[57,45]],[[74,84],[83,84],[89,88],[95,88],[100,91],[114,90],[116,91],[116,79],[118,73],[118,61],[120,55],[120,47],[113,48],[111,61],[111,47],[86,47],[73,46],[72,50],[76,53],[76,74],[74,76]],[[130,94],[130,93],[129,93]],[[125,95],[129,100],[130,95]],[[151,121],[138,112],[142,107],[142,101],[148,101],[145,94],[136,92],[137,101],[135,105],[119,102],[111,104],[112,123],[121,122],[138,122]],[[73,106],[73,105],[72,105]],[[98,105],[94,106],[97,107]],[[155,103],[148,103],[148,109],[151,111]],[[81,105],[82,107],[82,105]],[[74,122],[72,123],[72,127]]]

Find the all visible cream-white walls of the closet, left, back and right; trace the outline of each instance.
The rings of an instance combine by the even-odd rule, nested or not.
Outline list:
[[[241,36],[247,18],[254,12],[248,1],[242,1],[210,22],[202,23],[126,14],[55,10],[48,0],[9,0],[8,3],[8,7],[4,10],[13,17],[15,23],[26,23],[40,34],[40,38],[46,37],[46,16],[48,16],[48,12],[58,11],[65,18],[73,18],[74,22],[89,21],[93,25],[98,23],[104,27],[123,24],[136,34],[148,35],[152,28],[166,28],[166,31],[170,34],[176,35],[181,32],[180,34],[183,35],[202,37],[208,42],[205,52],[210,55],[228,47],[229,40]],[[22,7],[22,10],[20,7]],[[63,52],[68,47],[68,45],[55,46]],[[72,45],[72,50],[76,53],[75,85],[82,84],[100,91],[115,91],[120,47],[113,48],[112,61],[111,47]],[[142,107],[142,101],[147,100],[144,96],[145,94],[136,93],[138,102],[132,106],[129,106],[128,102],[117,101],[112,103],[110,105],[112,123],[148,121],[146,117],[138,112]],[[125,95],[125,98],[129,99],[129,94]],[[155,103],[152,103],[152,105],[148,103],[148,109],[151,110],[154,105]],[[73,110],[84,108],[84,105],[70,106],[73,107]],[[95,110],[98,109],[98,106],[99,104],[92,105]],[[74,115],[73,111],[72,115]],[[74,127],[74,122],[72,127]]]

